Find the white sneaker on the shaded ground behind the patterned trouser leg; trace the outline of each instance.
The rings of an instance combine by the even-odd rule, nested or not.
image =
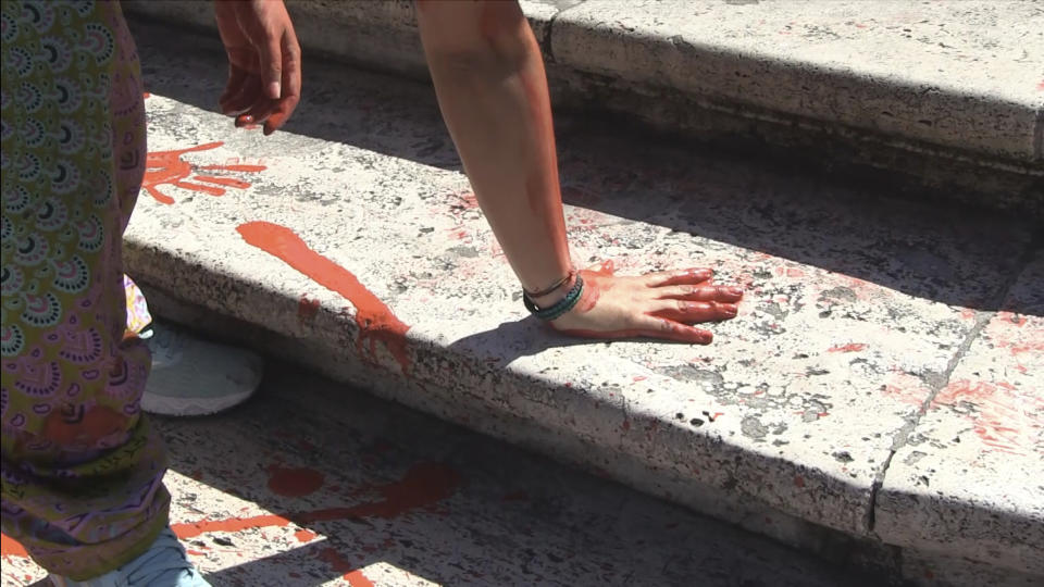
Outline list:
[[[206,415],[246,401],[261,384],[264,363],[246,349],[209,342],[183,328],[152,323],[141,338],[152,351],[152,372],[141,396],[146,412]]]

